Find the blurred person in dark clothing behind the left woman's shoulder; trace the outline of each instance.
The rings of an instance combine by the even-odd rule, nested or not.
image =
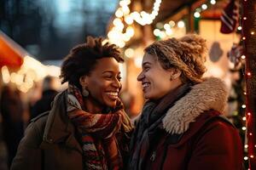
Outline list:
[[[58,94],[58,81],[59,80],[57,79],[57,77],[44,77],[42,97],[34,105],[32,105],[31,119],[45,111],[50,110],[51,103],[55,99],[55,95]]]

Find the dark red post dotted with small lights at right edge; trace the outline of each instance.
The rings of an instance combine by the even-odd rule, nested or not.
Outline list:
[[[246,55],[249,169],[256,169],[256,0],[242,0],[242,40]]]

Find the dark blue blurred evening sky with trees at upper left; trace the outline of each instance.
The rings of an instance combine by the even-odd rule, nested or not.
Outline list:
[[[0,0],[0,29],[40,61],[106,35],[118,0]]]

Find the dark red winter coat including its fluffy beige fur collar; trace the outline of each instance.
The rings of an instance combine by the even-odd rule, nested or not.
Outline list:
[[[148,149],[141,149],[146,156],[138,158],[142,166],[133,166],[135,170],[241,170],[239,133],[219,116],[227,97],[224,82],[218,78],[193,86],[170,105],[160,125],[150,133]],[[142,120],[138,119],[138,124]],[[135,145],[138,147],[137,141]],[[134,150],[131,148],[131,156]]]

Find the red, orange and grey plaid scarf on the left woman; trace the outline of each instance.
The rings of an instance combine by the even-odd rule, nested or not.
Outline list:
[[[84,111],[79,88],[70,84],[67,89],[67,115],[79,129],[84,169],[122,169],[123,160],[115,133],[129,133],[132,127],[120,100],[108,114],[90,113]]]

